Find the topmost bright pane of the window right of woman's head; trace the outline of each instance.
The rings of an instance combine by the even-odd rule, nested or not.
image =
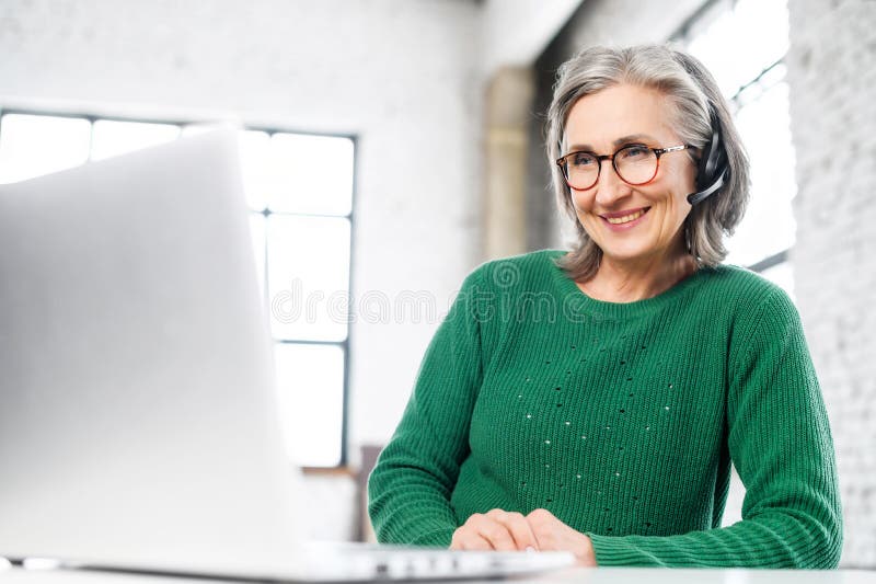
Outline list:
[[[717,15],[698,31],[688,50],[712,71],[724,95],[731,98],[787,53],[787,2],[738,0],[733,9],[724,3],[714,10]]]

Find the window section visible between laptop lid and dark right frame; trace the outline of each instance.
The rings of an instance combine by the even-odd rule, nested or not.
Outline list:
[[[354,144],[250,130],[241,150],[287,445],[299,465],[337,466],[345,459]]]

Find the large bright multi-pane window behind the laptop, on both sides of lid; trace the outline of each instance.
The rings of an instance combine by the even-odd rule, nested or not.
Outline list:
[[[185,122],[0,114],[0,183],[200,130]],[[338,466],[346,459],[354,140],[252,128],[239,144],[288,451],[301,466]]]

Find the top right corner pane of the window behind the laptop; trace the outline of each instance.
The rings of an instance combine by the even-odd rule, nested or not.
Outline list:
[[[348,215],[353,198],[353,141],[348,138],[275,134],[268,207],[276,211]]]

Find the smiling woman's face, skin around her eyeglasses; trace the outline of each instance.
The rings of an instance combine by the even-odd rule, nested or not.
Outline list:
[[[586,95],[572,107],[563,153],[587,150],[611,154],[626,145],[679,146],[670,126],[672,106],[662,93],[620,84]],[[667,152],[647,184],[623,182],[602,161],[596,185],[572,191],[584,229],[599,245],[603,261],[671,261],[685,253],[682,225],[691,210],[696,168],[689,150]]]

